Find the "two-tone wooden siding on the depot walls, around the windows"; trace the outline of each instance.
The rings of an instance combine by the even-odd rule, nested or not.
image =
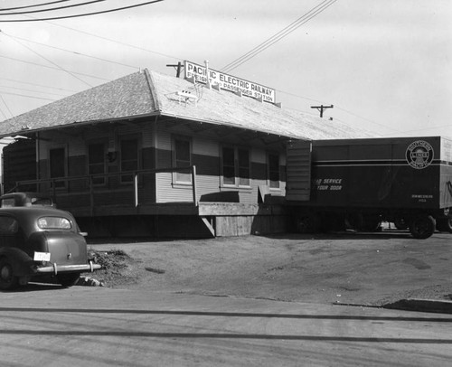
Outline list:
[[[67,146],[68,174],[69,176],[80,176],[88,174],[87,167],[87,142],[104,139],[109,151],[118,151],[118,144],[122,136],[137,136],[140,145],[140,168],[160,169],[173,167],[173,139],[174,136],[186,136],[191,141],[192,165],[196,167],[196,202],[240,202],[254,204],[259,202],[279,203],[285,195],[285,165],[280,165],[280,187],[270,189],[268,186],[268,150],[266,146],[244,146],[235,145],[238,148],[250,150],[250,186],[229,186],[221,184],[221,146],[220,136],[216,139],[212,136],[198,136],[189,128],[188,124],[182,123],[155,123],[153,120],[143,123],[110,124],[107,126],[84,127],[80,135],[61,133],[58,131],[42,133],[44,139],[40,144],[40,167],[41,177],[47,178],[47,155],[52,146]],[[211,131],[209,130],[209,134]],[[213,134],[214,135],[214,134]],[[228,136],[231,140],[231,136]],[[259,139],[254,144],[260,144]],[[228,144],[231,145],[231,142]],[[232,144],[232,146],[234,146]],[[275,151],[275,150],[273,150]],[[283,152],[278,153],[280,164],[285,162]],[[107,173],[118,173],[119,161],[106,164]],[[140,202],[144,203],[168,203],[168,202],[193,202],[193,185],[175,183],[175,174],[159,173],[145,174],[139,177],[138,196]],[[47,190],[50,184],[44,185]],[[118,176],[110,177],[105,185],[96,186],[96,192],[110,191],[118,192],[115,201],[121,204],[123,201],[130,202],[129,194],[131,184],[121,184]],[[88,180],[74,182],[66,185],[61,192],[77,194],[89,190]],[[113,196],[111,196],[113,198]],[[99,202],[104,202],[99,197]]]

